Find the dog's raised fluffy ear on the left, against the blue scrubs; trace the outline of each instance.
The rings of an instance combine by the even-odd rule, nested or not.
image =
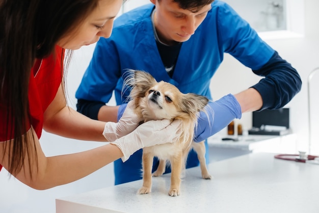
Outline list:
[[[124,79],[124,86],[131,87],[130,97],[144,97],[145,93],[156,84],[155,78],[148,72],[141,70],[128,70]]]

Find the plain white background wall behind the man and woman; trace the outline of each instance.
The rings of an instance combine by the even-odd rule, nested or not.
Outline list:
[[[294,0],[295,1],[295,0]],[[297,96],[287,105],[290,107],[290,125],[298,136],[298,149],[308,150],[308,107],[307,107],[307,77],[312,69],[319,67],[319,28],[317,20],[319,14],[319,1],[305,0],[305,34],[303,38],[275,39],[268,43],[276,49],[282,58],[293,64],[299,71],[303,86]],[[148,0],[130,0],[126,4],[148,3]],[[247,6],[247,5],[246,5]],[[248,6],[247,6],[248,7]],[[74,58],[68,72],[69,104],[75,108],[74,93],[81,81],[82,75],[88,66],[95,45],[83,47],[74,53]],[[229,78],[229,76],[232,76]],[[240,81],[238,81],[240,79]],[[259,77],[251,70],[238,63],[232,57],[225,55],[225,60],[211,82],[211,90],[215,99],[227,93],[236,93],[250,87],[258,81]],[[319,83],[319,78],[314,79],[314,86]],[[313,88],[318,91],[318,88]],[[313,95],[317,98],[317,95]],[[114,100],[112,100],[114,103]],[[314,106],[316,103],[314,103]],[[315,108],[314,108],[315,110]],[[313,111],[314,111],[313,110]],[[316,113],[313,120],[319,120]],[[243,115],[240,121],[244,128],[251,126],[251,114]],[[316,126],[319,126],[316,124]],[[316,133],[316,132],[315,132]],[[82,151],[101,145],[96,142],[82,142],[65,139],[43,132],[41,145],[47,156]],[[318,140],[316,141],[319,144]],[[319,145],[315,153],[319,154]],[[0,206],[1,212],[55,212],[55,199],[76,193],[91,191],[114,184],[113,165],[108,165],[99,171],[75,181],[46,191],[32,190],[19,181],[8,176],[5,170],[0,172]]]

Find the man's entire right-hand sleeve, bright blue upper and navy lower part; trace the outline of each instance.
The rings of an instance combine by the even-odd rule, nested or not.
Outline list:
[[[284,107],[301,89],[301,78],[229,5],[216,1],[222,49],[263,79],[252,88],[263,100],[260,110]]]

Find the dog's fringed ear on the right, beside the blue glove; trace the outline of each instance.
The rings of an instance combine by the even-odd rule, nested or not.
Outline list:
[[[188,114],[196,114],[204,109],[208,103],[208,98],[195,93],[187,93],[183,95],[181,109]]]

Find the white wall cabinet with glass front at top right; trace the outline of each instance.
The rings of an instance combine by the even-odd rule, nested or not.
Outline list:
[[[298,38],[304,34],[304,0],[224,0],[262,39]]]

